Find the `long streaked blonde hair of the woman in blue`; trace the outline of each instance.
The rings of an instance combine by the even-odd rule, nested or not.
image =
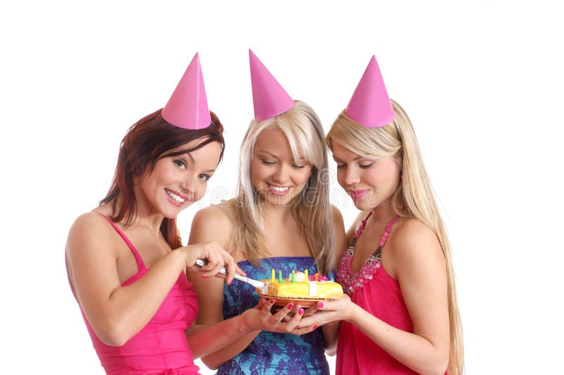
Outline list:
[[[302,101],[295,101],[290,110],[267,120],[252,120],[243,138],[239,158],[238,192],[234,199],[234,248],[243,251],[247,260],[258,266],[268,257],[264,247],[263,207],[251,180],[251,159],[259,134],[264,129],[278,128],[288,139],[293,157],[303,156],[312,164],[312,174],[291,209],[300,224],[317,269],[329,274],[334,266],[335,234],[329,204],[329,170],[323,127],[314,110]],[[233,244],[232,244],[233,245]]]

